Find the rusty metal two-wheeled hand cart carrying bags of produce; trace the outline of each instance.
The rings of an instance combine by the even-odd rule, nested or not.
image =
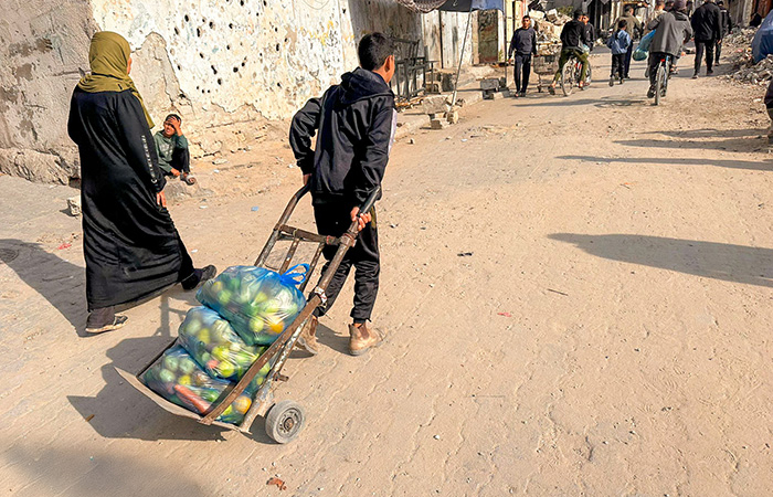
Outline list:
[[[250,429],[252,427],[255,417],[258,415],[263,415],[266,417],[266,434],[274,441],[280,444],[285,444],[298,436],[298,433],[300,433],[300,430],[304,427],[306,421],[304,409],[296,402],[289,400],[274,403],[273,384],[275,381],[287,380],[287,377],[282,374],[282,368],[284,367],[285,361],[293,351],[293,347],[295,347],[295,342],[298,339],[298,336],[300,335],[300,330],[306,325],[306,321],[308,320],[309,316],[311,316],[311,313],[314,313],[314,309],[316,309],[320,305],[324,305],[327,302],[325,290],[330,284],[330,279],[332,279],[332,276],[336,273],[336,269],[338,269],[338,266],[341,264],[341,261],[343,260],[343,256],[346,255],[347,251],[354,245],[358,234],[356,222],[352,222],[349,226],[349,230],[340,237],[318,235],[316,233],[289,226],[287,224],[287,221],[289,221],[289,218],[293,214],[293,211],[295,210],[296,205],[298,204],[298,201],[308,191],[309,187],[305,186],[293,195],[289,203],[285,208],[285,211],[283,212],[282,216],[279,218],[278,223],[274,226],[274,231],[268,237],[266,245],[263,247],[261,255],[258,255],[257,260],[255,261],[255,266],[267,267],[269,269],[284,273],[293,263],[293,257],[295,256],[298,245],[301,242],[316,244],[317,248],[309,264],[308,277],[299,286],[299,289],[304,292],[309,277],[314,273],[314,269],[317,266],[317,263],[319,262],[319,257],[322,254],[322,248],[326,245],[338,245],[338,251],[330,261],[327,271],[325,271],[321,275],[319,284],[309,294],[308,300],[306,302],[306,306],[300,310],[295,320],[282,332],[282,335],[279,335],[276,341],[274,341],[274,343],[272,343],[271,347],[268,347],[268,349],[265,352],[263,352],[263,355],[261,355],[261,357],[250,367],[250,369],[244,373],[244,377],[242,377],[239,383],[236,383],[230,391],[226,390],[225,392],[223,392],[221,398],[212,403],[210,411],[207,412],[204,415],[199,415],[158,395],[156,392],[146,387],[145,383],[142,383],[142,381],[140,380],[140,378],[145,373],[145,371],[147,371],[148,368],[150,368],[163,355],[163,352],[166,352],[167,349],[171,348],[174,345],[174,341],[172,341],[165,350],[162,350],[158,356],[156,356],[137,374],[131,374],[129,372],[116,368],[118,374],[120,374],[120,377],[124,378],[126,382],[128,382],[131,387],[139,390],[147,398],[156,402],[156,404],[158,404],[163,410],[179,416],[197,420],[199,423],[202,424],[215,425],[229,430],[239,430],[242,433],[248,434],[251,433]],[[380,191],[381,189],[377,188],[370,194],[370,198],[360,209],[361,213],[367,213],[371,210],[371,208],[375,203],[375,199],[379,195]],[[290,240],[292,242],[282,262],[282,266],[277,269],[274,269],[266,265],[266,260],[274,250],[274,245],[279,240]],[[242,421],[240,425],[215,421],[218,416],[220,416],[223,413],[223,411],[225,411],[225,409],[229,405],[231,405],[231,403],[244,391],[244,389],[257,376],[261,369],[269,361],[274,361],[274,364],[271,369],[271,372],[266,376],[266,379],[261,385],[261,388],[257,390],[257,392],[255,392],[252,405],[244,415],[244,421]]]

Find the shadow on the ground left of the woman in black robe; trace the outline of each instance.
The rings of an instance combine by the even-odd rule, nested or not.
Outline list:
[[[86,273],[83,267],[43,250],[38,243],[0,239],[0,264],[13,269],[75,327],[86,326]]]

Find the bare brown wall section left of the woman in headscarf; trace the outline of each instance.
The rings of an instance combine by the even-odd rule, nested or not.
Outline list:
[[[3,2],[0,18],[0,171],[47,182],[77,173],[66,133],[70,96],[96,31],[81,0]]]

